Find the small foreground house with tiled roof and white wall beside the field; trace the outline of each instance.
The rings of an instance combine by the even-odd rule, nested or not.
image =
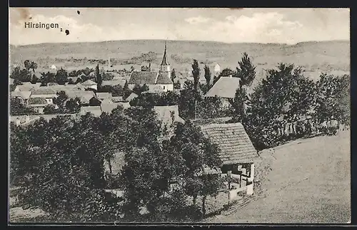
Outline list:
[[[218,145],[221,172],[231,178],[235,192],[246,189],[253,194],[254,162],[258,151],[253,147],[241,123],[201,125],[203,135]],[[230,187],[230,185],[228,185]]]

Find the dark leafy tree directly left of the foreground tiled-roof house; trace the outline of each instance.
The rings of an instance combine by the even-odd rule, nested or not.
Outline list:
[[[193,204],[196,204],[199,195],[206,197],[210,194],[218,194],[218,189],[223,185],[219,177],[211,177],[204,173],[206,167],[211,169],[221,167],[217,145],[204,137],[199,127],[186,121],[185,124],[178,123],[176,126],[170,146],[171,151],[178,156],[176,161],[181,166],[176,169],[179,173],[175,177],[183,179],[183,189],[188,196],[193,197]]]

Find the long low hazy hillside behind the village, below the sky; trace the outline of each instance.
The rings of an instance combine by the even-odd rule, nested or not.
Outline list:
[[[77,68],[76,64],[64,63],[63,59],[87,58],[96,60],[119,60],[141,56],[154,52],[157,55],[153,64],[158,65],[164,51],[164,41],[127,40],[104,41],[96,43],[42,43],[28,46],[11,46],[11,64],[24,63],[26,59],[35,61],[39,68],[64,66]],[[221,68],[236,68],[243,52],[253,58],[257,66],[258,79],[263,78],[265,70],[275,68],[278,63],[294,63],[305,68],[312,78],[321,72],[337,74],[350,71],[349,41],[303,42],[296,45],[261,44],[261,43],[220,43],[212,41],[168,41],[169,63],[183,74],[191,72],[191,61],[197,59],[203,63],[219,63]],[[87,66],[94,66],[89,63]],[[114,66],[127,68],[127,66]],[[139,68],[139,66],[134,66]],[[202,70],[203,71],[203,70]]]

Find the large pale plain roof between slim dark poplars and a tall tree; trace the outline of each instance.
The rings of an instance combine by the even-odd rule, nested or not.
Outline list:
[[[240,78],[221,77],[206,93],[205,97],[234,98]]]

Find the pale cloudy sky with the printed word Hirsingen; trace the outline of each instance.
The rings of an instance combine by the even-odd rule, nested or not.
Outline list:
[[[30,21],[59,23],[59,28],[24,28],[24,23]],[[64,33],[66,29],[69,35]],[[288,44],[349,41],[350,12],[281,8],[11,8],[9,31],[9,41],[15,46],[134,39]]]

